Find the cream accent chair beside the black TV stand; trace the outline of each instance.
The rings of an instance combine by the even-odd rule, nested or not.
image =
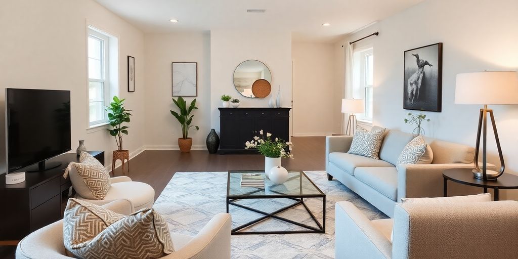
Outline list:
[[[111,186],[108,193],[102,200],[88,199],[81,196],[81,193],[89,193],[87,186],[82,184],[74,184],[74,182],[83,181],[79,176],[76,167],[72,166],[68,174],[70,181],[74,186],[77,194],[75,198],[85,200],[86,202],[102,206],[113,200],[126,199],[131,204],[131,211],[135,212],[144,208],[153,207],[155,190],[147,183],[134,182],[130,177],[118,176],[111,178]]]

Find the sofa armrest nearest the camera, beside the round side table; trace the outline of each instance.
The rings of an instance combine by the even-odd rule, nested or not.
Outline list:
[[[474,168],[473,164],[401,164],[397,166],[397,202],[401,198],[442,197],[442,172],[452,168]],[[488,168],[496,168],[488,164]],[[471,194],[470,186],[459,186],[456,195]],[[452,194],[453,195],[453,194]]]

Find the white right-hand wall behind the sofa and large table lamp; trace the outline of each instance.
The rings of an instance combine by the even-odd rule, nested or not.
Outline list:
[[[425,124],[426,135],[474,146],[480,107],[454,104],[455,76],[483,70],[518,70],[516,13],[515,0],[428,0],[349,36],[354,40],[380,32],[360,44],[370,41],[374,46],[374,124],[413,130],[403,122],[409,112],[402,109],[403,52],[443,42],[442,112],[426,112],[431,119]],[[336,48],[341,45],[339,42]],[[506,171],[518,172],[518,106],[491,108]],[[488,133],[490,162],[499,164],[492,134]],[[518,192],[508,194],[508,198],[518,199]]]

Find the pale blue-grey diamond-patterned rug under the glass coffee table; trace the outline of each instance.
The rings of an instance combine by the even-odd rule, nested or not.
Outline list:
[[[307,171],[306,175],[326,194],[325,234],[233,235],[232,258],[334,258],[335,203],[352,202],[369,219],[387,216],[337,180],[328,181],[325,171]],[[217,213],[226,212],[227,172],[177,172],[167,184],[153,208],[169,223],[171,232],[196,235]],[[322,199],[305,199],[317,219],[322,219]],[[289,199],[244,200],[243,205],[272,212],[293,203]],[[233,227],[259,218],[260,214],[230,206]],[[282,212],[282,217],[297,222],[312,222],[303,206]],[[268,219],[250,230],[298,230],[298,226]],[[344,244],[347,245],[347,244]]]

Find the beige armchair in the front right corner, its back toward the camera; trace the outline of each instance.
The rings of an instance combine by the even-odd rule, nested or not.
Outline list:
[[[518,258],[516,243],[515,201],[397,204],[394,219],[372,221],[336,204],[336,259]]]

